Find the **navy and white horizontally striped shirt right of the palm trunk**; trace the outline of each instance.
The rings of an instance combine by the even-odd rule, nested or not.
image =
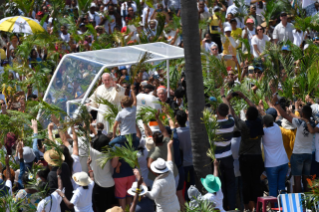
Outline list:
[[[217,120],[219,129],[216,130],[216,134],[220,136],[220,140],[214,141],[215,157],[217,159],[225,158],[232,155],[231,151],[231,139],[233,137],[235,120],[231,115],[228,118]]]

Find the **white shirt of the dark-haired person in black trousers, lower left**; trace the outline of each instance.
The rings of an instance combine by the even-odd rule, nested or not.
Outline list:
[[[114,186],[114,180],[112,178],[113,169],[111,167],[111,162],[106,162],[104,168],[102,169],[98,162],[98,159],[102,157],[102,153],[93,148],[90,148],[90,153],[92,157],[91,168],[94,173],[95,183],[103,188]]]

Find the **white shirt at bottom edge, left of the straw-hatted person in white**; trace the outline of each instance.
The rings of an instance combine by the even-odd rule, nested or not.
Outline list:
[[[50,196],[46,197],[45,199],[39,202],[37,212],[42,212],[43,209],[45,210],[45,212],[61,212],[61,202],[62,197],[58,194],[58,192],[55,191]]]

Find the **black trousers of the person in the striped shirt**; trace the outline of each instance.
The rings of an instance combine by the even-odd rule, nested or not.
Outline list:
[[[219,178],[222,181],[225,210],[235,210],[236,178],[234,173],[234,158],[232,155],[217,159],[219,162]]]

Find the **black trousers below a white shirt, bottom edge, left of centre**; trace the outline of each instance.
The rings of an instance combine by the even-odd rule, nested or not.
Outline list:
[[[103,188],[95,183],[92,195],[93,207],[96,212],[105,212],[107,209],[112,208],[115,202],[115,186]]]

